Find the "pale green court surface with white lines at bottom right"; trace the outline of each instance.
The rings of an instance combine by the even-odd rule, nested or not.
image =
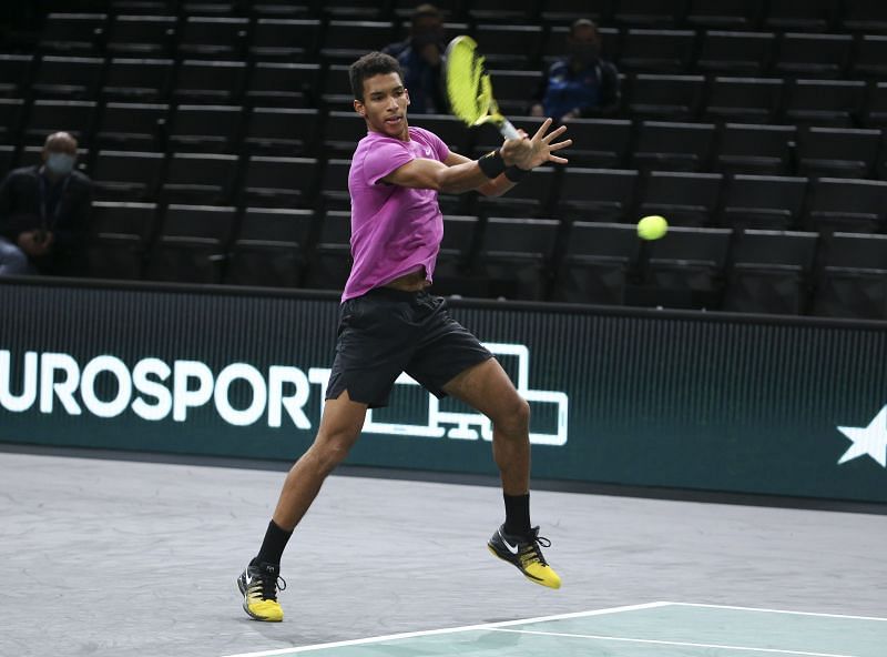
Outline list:
[[[887,618],[682,603],[390,635],[228,657],[884,657]]]

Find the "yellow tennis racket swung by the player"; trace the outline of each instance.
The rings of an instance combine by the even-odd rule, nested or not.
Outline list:
[[[492,97],[490,74],[483,65],[483,55],[478,52],[478,44],[471,37],[456,37],[447,46],[443,80],[452,113],[467,125],[476,128],[491,123],[503,138],[521,139],[511,121],[499,111]]]

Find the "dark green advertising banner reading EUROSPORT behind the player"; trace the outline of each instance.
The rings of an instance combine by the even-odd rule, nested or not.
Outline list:
[[[293,461],[335,294],[0,283],[0,442]],[[451,301],[531,406],[537,478],[887,502],[879,324]],[[489,422],[406,375],[348,463],[496,472]]]

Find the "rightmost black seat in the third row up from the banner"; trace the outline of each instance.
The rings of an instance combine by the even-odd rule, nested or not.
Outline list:
[[[803,128],[797,141],[797,172],[808,176],[871,178],[880,146],[880,130]]]

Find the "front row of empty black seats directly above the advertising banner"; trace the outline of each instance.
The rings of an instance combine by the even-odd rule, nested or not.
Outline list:
[[[349,213],[173,204],[95,206],[92,275],[340,290]],[[157,226],[156,223],[161,225]],[[887,319],[887,235],[633,226],[448,215],[443,294]]]

